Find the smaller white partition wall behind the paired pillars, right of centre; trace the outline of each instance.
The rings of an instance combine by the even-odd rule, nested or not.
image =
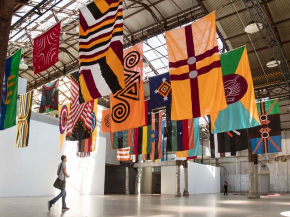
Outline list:
[[[175,193],[176,166],[161,167],[161,194]],[[183,166],[180,169],[180,192],[184,189]],[[188,192],[219,193],[220,192],[220,168],[188,161]]]

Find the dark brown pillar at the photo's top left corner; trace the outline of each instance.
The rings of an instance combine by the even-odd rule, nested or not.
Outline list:
[[[0,100],[2,92],[2,80],[4,76],[4,68],[7,55],[7,46],[9,40],[9,32],[11,18],[13,13],[15,0],[1,0],[0,6]]]

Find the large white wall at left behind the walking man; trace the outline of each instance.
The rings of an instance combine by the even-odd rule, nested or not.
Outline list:
[[[58,124],[58,118],[32,112],[29,143],[24,148],[14,148],[16,126],[0,131],[0,196],[58,193],[52,185],[62,154],[68,160],[66,189],[70,197],[104,193],[106,138],[97,136],[96,150],[90,157],[80,158],[74,141],[64,142],[60,150]]]

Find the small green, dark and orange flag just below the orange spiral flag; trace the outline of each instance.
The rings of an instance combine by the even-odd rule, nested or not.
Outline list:
[[[111,149],[130,147],[133,145],[133,129],[110,132]]]

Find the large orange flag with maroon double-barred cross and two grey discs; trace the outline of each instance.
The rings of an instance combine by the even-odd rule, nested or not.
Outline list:
[[[215,11],[165,35],[172,86],[171,119],[190,119],[226,108]]]

